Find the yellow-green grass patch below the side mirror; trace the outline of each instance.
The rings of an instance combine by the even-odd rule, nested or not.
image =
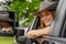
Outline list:
[[[13,44],[14,42],[14,36],[9,37],[9,36],[0,36],[0,44]]]

